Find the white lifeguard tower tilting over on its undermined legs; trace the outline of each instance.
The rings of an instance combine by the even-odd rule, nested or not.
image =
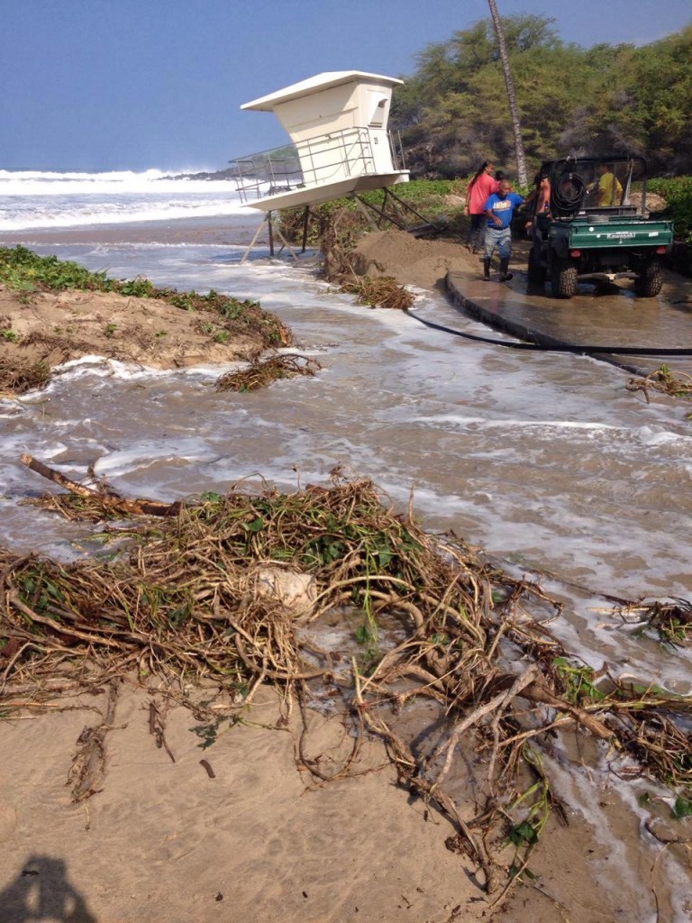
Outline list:
[[[310,206],[343,197],[355,198],[374,227],[387,220],[416,236],[439,232],[438,224],[391,191],[409,180],[400,138],[388,130],[392,90],[401,82],[363,71],[334,71],[241,106],[276,114],[292,142],[231,161],[241,198],[265,213],[248,251],[268,222],[273,254],[271,212],[300,206],[304,249]],[[359,197],[369,189],[384,190],[378,206]]]

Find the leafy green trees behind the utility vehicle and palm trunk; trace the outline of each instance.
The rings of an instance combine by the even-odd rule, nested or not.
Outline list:
[[[650,174],[692,173],[692,23],[636,46],[583,48],[558,37],[555,19],[502,18],[522,138],[530,164],[568,153],[643,154]],[[606,30],[607,32],[607,30]],[[601,25],[594,24],[594,40]],[[394,94],[414,176],[469,174],[493,159],[515,172],[507,90],[491,18],[428,45]]]

